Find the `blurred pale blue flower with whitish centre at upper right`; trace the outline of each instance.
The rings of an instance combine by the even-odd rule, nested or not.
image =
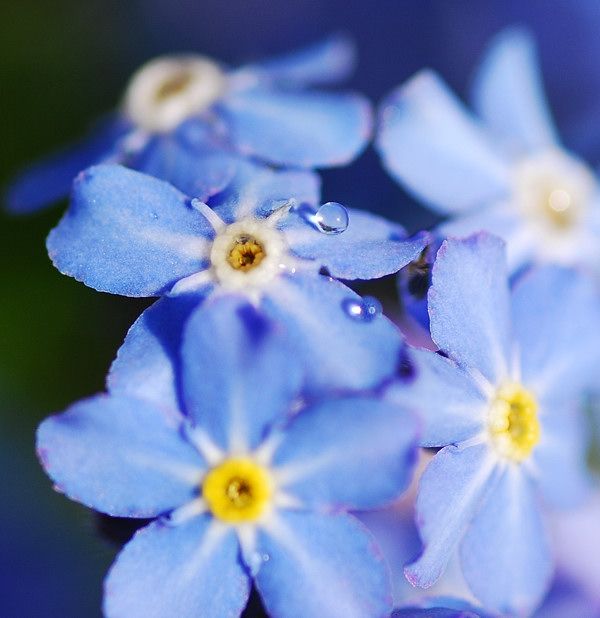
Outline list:
[[[505,239],[511,273],[531,263],[600,272],[598,181],[558,141],[527,33],[511,29],[493,42],[474,107],[478,117],[431,71],[398,88],[377,138],[390,174],[450,217],[442,234]]]

